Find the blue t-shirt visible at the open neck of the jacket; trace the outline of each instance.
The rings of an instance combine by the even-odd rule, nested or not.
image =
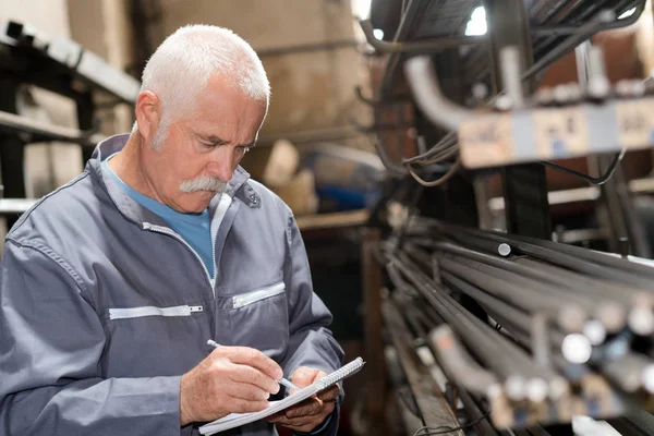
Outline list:
[[[143,195],[135,191],[109,167],[107,161],[102,161],[102,169],[107,171],[113,180],[132,199],[149,209],[152,213],[161,217],[168,225],[178,232],[189,245],[199,255],[199,258],[207,267],[209,277],[214,278],[214,250],[211,247],[211,227],[209,210],[205,209],[198,214],[182,214],[173,208],[166,206],[156,199]]]

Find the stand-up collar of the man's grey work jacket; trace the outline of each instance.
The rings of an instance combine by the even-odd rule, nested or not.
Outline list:
[[[116,204],[116,207],[129,219],[135,221],[138,225],[144,222],[155,223],[159,226],[167,226],[166,222],[157,215],[153,214],[146,207],[143,207],[138,202],[135,202],[120,187],[116,181],[105,174],[102,171],[101,162],[109,156],[113,155],[123,149],[130,134],[118,134],[106,138],[100,142],[88,162],[86,164],[86,170],[94,177],[100,185],[107,191],[109,197]],[[259,207],[261,198],[254,192],[252,186],[247,183],[250,174],[242,167],[237,167],[231,180],[228,183],[226,195],[232,198],[239,198],[245,203],[249,207]],[[209,203],[209,211],[214,216],[214,211],[218,207],[220,202],[220,195],[214,196]]]

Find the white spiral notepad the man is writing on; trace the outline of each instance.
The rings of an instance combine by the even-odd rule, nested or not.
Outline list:
[[[295,393],[286,397],[283,400],[269,401],[268,407],[262,410],[261,412],[231,413],[227,416],[221,417],[220,420],[216,420],[214,422],[203,425],[202,427],[199,427],[199,433],[203,435],[214,435],[216,433],[225,432],[226,429],[240,427],[241,425],[262,420],[277,412],[281,412],[282,410],[288,409],[291,405],[294,405],[307,399],[308,397],[318,393],[322,390],[325,390],[331,385],[339,383],[343,378],[347,378],[352,374],[356,374],[363,367],[364,364],[365,363],[363,362],[363,359],[356,358],[347,365],[343,365],[339,370],[336,370],[334,373],[326,375],[325,377],[314,382],[307,387],[300,389]]]

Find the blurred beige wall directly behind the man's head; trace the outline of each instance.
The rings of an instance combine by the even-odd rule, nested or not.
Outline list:
[[[162,31],[204,23],[231,28],[255,50],[354,39],[350,0],[161,0]],[[365,83],[353,48],[263,57],[272,99],[263,134],[370,120],[353,88]],[[370,147],[370,141],[350,145]]]

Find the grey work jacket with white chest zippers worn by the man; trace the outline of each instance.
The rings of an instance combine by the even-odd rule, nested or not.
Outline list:
[[[209,205],[216,278],[101,170],[76,179],[5,239],[0,267],[0,435],[196,435],[180,428],[181,375],[223,346],[331,372],[342,350],[313,292],[288,206],[238,168]],[[334,435],[338,415],[322,435]],[[225,434],[269,436],[257,422]]]

